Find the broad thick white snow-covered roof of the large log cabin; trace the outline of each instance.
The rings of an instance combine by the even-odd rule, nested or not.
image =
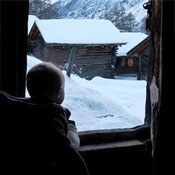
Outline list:
[[[109,20],[50,19],[36,25],[46,43],[55,44],[121,44],[126,41]]]

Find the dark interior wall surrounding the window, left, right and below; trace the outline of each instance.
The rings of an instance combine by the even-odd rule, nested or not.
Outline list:
[[[17,99],[25,94],[28,5],[28,0],[0,1],[0,89]],[[173,93],[174,7],[174,1],[152,0],[145,124],[79,133],[79,151],[91,175],[169,175],[174,171],[173,113],[168,98]]]

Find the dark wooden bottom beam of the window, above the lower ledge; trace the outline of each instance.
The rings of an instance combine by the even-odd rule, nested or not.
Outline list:
[[[94,130],[79,132],[80,146],[116,143],[127,140],[149,140],[150,126],[142,125],[129,129]]]

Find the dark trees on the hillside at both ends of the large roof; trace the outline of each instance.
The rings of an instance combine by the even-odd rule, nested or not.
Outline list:
[[[59,10],[51,4],[51,0],[30,0],[29,14],[35,15],[39,19],[53,19],[55,14],[57,18],[63,18],[59,14]],[[110,8],[109,4],[105,5],[105,10],[99,16],[100,19],[110,20],[119,30],[123,32],[144,32],[145,33],[145,19],[139,25],[135,16],[132,13],[126,14],[126,9],[122,4],[116,4]]]

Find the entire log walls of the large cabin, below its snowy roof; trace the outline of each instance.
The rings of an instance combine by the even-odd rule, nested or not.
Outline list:
[[[66,69],[71,49],[70,46],[45,44],[38,32],[36,39],[30,42],[28,50],[42,61],[49,61],[61,69]],[[115,47],[111,46],[82,45],[76,47],[72,71],[87,79],[95,76],[112,78],[111,61],[114,53]]]

